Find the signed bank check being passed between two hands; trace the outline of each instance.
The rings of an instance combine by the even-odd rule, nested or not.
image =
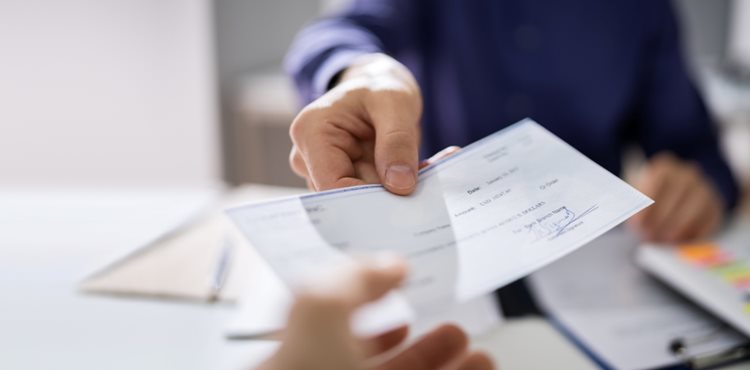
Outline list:
[[[228,213],[291,287],[351,256],[403,256],[402,289],[355,317],[377,332],[521,278],[651,203],[526,119],[423,169],[410,196],[365,185]]]

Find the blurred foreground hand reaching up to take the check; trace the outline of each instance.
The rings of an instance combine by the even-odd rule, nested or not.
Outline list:
[[[491,370],[490,359],[470,352],[466,335],[444,325],[385,362],[373,356],[397,347],[407,336],[400,328],[371,339],[353,335],[353,312],[398,287],[406,276],[399,260],[350,266],[334,279],[297,294],[282,344],[257,370]]]

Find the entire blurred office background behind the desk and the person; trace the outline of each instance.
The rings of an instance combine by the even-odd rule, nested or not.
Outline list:
[[[0,184],[303,185],[287,164],[299,106],[280,62],[300,27],[346,1],[0,0]],[[750,88],[736,66],[750,65],[750,0],[675,4],[747,179]]]

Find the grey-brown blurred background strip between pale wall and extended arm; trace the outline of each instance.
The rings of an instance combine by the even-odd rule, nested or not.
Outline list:
[[[346,0],[215,0],[225,173],[232,183],[304,186],[286,164],[299,104],[281,61],[300,28]]]

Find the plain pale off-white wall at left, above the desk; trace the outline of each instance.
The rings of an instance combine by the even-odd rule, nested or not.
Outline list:
[[[0,0],[0,184],[221,176],[209,0]]]

